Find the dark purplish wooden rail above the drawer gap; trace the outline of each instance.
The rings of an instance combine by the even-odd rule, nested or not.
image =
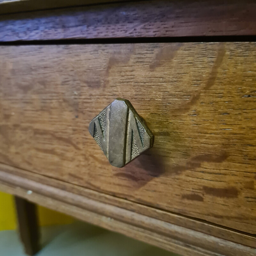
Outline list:
[[[255,13],[253,0],[139,1],[27,12],[0,17],[0,41],[255,36]]]

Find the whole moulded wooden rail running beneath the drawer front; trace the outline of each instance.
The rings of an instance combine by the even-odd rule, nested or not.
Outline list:
[[[14,173],[12,174],[12,172]],[[26,173],[30,176],[29,179],[19,176],[20,174],[24,175]],[[108,200],[100,202],[88,198],[85,195],[80,196],[68,192],[66,188],[71,188],[69,184],[62,182],[62,188],[59,189],[42,183],[42,180],[44,182],[45,179],[51,183],[51,179],[49,178],[34,175],[42,179],[37,182],[33,181],[32,176],[32,173],[1,165],[0,189],[14,195],[19,194],[32,202],[40,202],[40,204],[57,211],[66,211],[66,213],[84,221],[121,232],[170,251],[182,253],[182,255],[253,256],[256,252],[256,249],[252,247],[233,243],[212,235],[206,235],[205,233],[197,232],[192,229],[183,228],[177,224],[170,224],[166,221],[147,217],[137,211],[125,210],[120,207],[123,205],[122,199],[116,198],[116,200],[119,200],[119,206],[116,207],[109,204]],[[56,182],[56,180],[54,182]],[[30,191],[32,191],[32,193],[27,193],[26,189],[28,188],[31,189]],[[81,190],[82,188],[79,189]],[[95,194],[98,192],[92,193]],[[139,206],[138,204],[135,205]],[[158,216],[160,216],[160,214]],[[200,225],[200,222],[197,221],[197,224]],[[127,227],[129,227],[128,230]],[[224,230],[224,232],[225,231],[227,232],[227,230]],[[229,231],[229,233],[231,234],[232,231]],[[242,237],[241,234],[237,235]],[[227,236],[227,238],[229,238],[229,236]],[[255,238],[250,238],[254,239],[255,245]],[[248,242],[249,241],[248,239]]]

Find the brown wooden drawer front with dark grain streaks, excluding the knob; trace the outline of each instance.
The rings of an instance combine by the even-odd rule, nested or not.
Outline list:
[[[0,162],[256,233],[256,44],[0,47]],[[116,168],[88,131],[117,97],[154,147]]]

